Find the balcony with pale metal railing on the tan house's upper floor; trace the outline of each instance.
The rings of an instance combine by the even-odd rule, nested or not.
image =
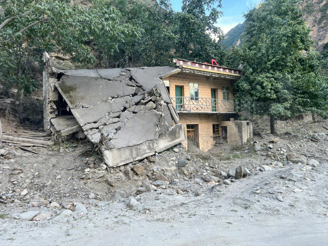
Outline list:
[[[178,112],[234,113],[234,102],[204,97],[171,97]],[[194,100],[198,99],[198,100]]]

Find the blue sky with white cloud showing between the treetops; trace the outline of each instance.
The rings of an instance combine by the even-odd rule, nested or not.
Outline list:
[[[181,11],[181,2],[181,0],[171,0],[174,10]],[[223,17],[217,20],[217,26],[224,33],[227,33],[238,23],[244,22],[243,13],[247,12],[250,7],[259,4],[259,2],[260,0],[222,0]]]

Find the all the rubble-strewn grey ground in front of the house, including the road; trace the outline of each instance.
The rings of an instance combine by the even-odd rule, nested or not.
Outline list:
[[[153,156],[155,162],[141,161],[142,175],[133,172],[134,165],[130,165],[131,179],[122,170],[128,165],[110,170],[95,165],[88,170],[80,158],[84,146],[76,143],[61,145],[58,150],[35,148],[40,154],[5,144],[12,158],[0,157],[0,199],[6,202],[0,203],[0,244],[326,245],[327,126],[327,121],[277,122],[277,136],[255,136],[263,144],[257,153],[251,143],[243,148],[221,143],[208,153],[195,146],[185,151],[179,145]],[[313,141],[318,133],[320,139]],[[276,141],[270,150],[267,144],[272,138]],[[280,154],[281,150],[286,152]],[[319,164],[286,164],[281,168],[271,166],[269,171],[258,170],[275,161],[272,154],[277,154],[277,162],[282,163],[292,152]],[[186,160],[187,165],[177,168],[179,159]],[[230,179],[229,185],[222,184],[227,178],[220,172],[239,165],[251,174]],[[23,172],[10,174],[15,167]],[[129,207],[137,187],[153,184],[159,174],[169,182],[138,195],[139,202]],[[201,179],[212,176],[221,181]],[[106,183],[106,178],[115,186]],[[31,183],[23,186],[27,179]],[[21,195],[24,189],[28,192]],[[110,201],[114,190],[126,192],[127,197],[97,203]],[[83,203],[76,205],[83,206],[83,213],[71,214],[61,206],[48,205],[70,201],[73,205]],[[50,216],[40,221],[15,219],[26,211]]]

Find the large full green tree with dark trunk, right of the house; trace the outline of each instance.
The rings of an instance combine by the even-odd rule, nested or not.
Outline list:
[[[265,0],[246,15],[245,45],[238,51],[244,76],[235,84],[239,109],[293,117],[325,115],[327,80],[319,75],[318,52],[297,0]]]

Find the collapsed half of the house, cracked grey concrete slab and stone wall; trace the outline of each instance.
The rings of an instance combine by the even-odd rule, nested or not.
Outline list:
[[[63,132],[67,125],[66,133],[71,133],[80,127],[113,167],[164,151],[187,139],[160,79],[176,72],[172,67],[71,71],[45,67],[45,129]],[[78,124],[72,126],[69,117],[63,122],[59,112],[71,114]]]

